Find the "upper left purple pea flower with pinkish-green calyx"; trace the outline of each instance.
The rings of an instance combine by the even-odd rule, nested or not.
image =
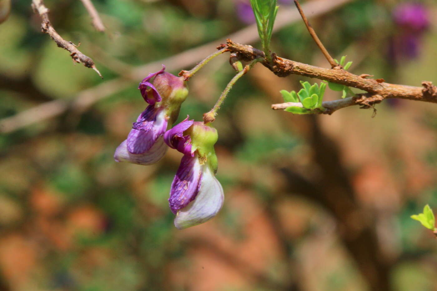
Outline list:
[[[150,80],[153,78],[153,82]],[[118,162],[149,165],[159,161],[167,151],[163,135],[177,120],[180,105],[187,98],[188,89],[183,77],[165,72],[165,66],[142,80],[138,88],[149,103],[133,123],[128,138],[115,150]]]

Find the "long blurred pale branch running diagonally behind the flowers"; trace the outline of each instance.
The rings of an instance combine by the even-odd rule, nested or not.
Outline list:
[[[332,11],[348,2],[351,2],[351,0],[313,0],[303,4],[302,6],[303,9],[311,11],[313,17],[316,17]],[[299,19],[300,15],[296,11],[296,9],[284,9],[278,12],[273,31],[278,31],[282,27],[296,22]],[[239,31],[236,31],[235,33],[229,35],[229,38],[236,39],[243,43],[252,43],[253,41],[257,41],[259,38],[257,25],[252,24]],[[80,108],[80,110],[86,110],[86,108],[93,105],[100,99],[103,99],[110,94],[114,94],[115,92],[124,90],[132,83],[132,81],[142,79],[149,72],[156,71],[161,67],[162,64],[166,64],[166,68],[169,71],[180,70],[194,64],[199,60],[199,56],[205,56],[210,54],[211,51],[213,51],[217,47],[217,43],[219,41],[220,40],[211,41],[205,45],[201,45],[197,48],[191,48],[187,51],[183,51],[169,58],[142,65],[129,72],[123,72],[123,77],[106,81],[98,86],[86,89],[78,93],[73,101],[50,101],[47,104],[44,103],[35,106],[34,108],[31,108],[29,110],[24,110],[23,112],[17,113],[17,115],[3,118],[2,120],[0,120],[0,132],[10,133],[14,130],[18,130],[22,127],[28,126],[32,123],[40,122],[42,120],[58,116],[59,114],[62,114],[69,109],[75,110]],[[40,114],[32,115],[31,113]]]

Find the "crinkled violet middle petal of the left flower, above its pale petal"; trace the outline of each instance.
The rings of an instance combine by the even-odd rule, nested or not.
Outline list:
[[[131,154],[142,154],[149,151],[158,137],[163,136],[167,128],[164,110],[149,105],[133,123],[133,128],[126,141]]]

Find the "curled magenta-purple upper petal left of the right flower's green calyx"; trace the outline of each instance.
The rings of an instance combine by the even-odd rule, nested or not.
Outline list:
[[[184,136],[184,131],[194,123],[194,120],[188,120],[188,118],[187,116],[184,121],[167,130],[164,134],[164,141],[169,147],[180,151],[182,154],[193,156],[194,153],[191,152],[191,137],[189,135]]]

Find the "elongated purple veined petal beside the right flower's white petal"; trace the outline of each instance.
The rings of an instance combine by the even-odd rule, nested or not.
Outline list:
[[[180,166],[174,176],[173,183],[171,183],[170,198],[168,199],[170,209],[174,214],[196,198],[202,168],[197,156],[185,155],[180,160]]]

